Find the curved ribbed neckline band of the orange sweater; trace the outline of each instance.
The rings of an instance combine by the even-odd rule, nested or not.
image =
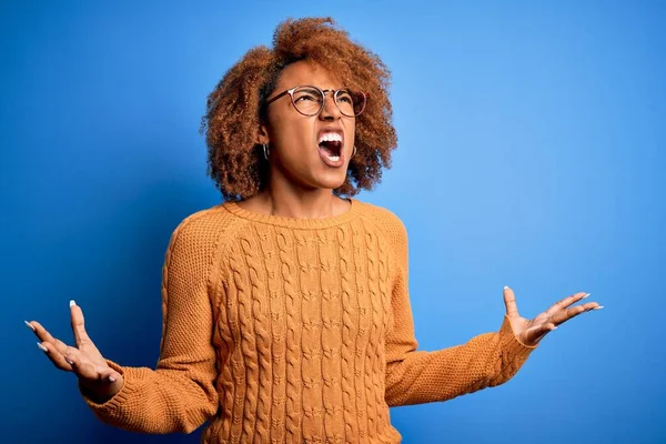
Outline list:
[[[301,230],[311,230],[311,229],[325,229],[331,226],[336,226],[343,224],[345,222],[351,221],[356,216],[359,211],[361,210],[360,202],[355,199],[349,198],[351,205],[342,214],[333,215],[330,218],[321,218],[321,219],[296,219],[296,218],[284,218],[280,215],[272,214],[261,214],[255,213],[250,210],[243,209],[234,201],[226,201],[222,203],[222,206],[226,209],[230,213],[234,214],[238,218],[245,219],[253,222],[265,223],[269,225],[284,226],[291,229],[301,229]]]

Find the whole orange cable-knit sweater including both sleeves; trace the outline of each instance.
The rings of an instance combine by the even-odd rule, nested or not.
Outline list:
[[[192,214],[165,254],[157,370],[109,364],[121,391],[102,421],[203,443],[398,443],[390,406],[508,381],[534,347],[496,333],[416,350],[407,236],[390,211],[352,200],[329,219]]]

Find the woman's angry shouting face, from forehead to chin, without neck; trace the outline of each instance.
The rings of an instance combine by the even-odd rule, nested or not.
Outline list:
[[[321,90],[345,87],[322,67],[299,61],[284,68],[269,99],[297,85],[314,85]],[[275,181],[287,181],[292,186],[312,191],[333,190],[344,183],[356,121],[340,112],[332,92],[325,95],[324,108],[313,117],[296,111],[289,94],[269,105],[268,124],[261,129],[260,143],[270,145],[273,185]],[[294,97],[294,100],[307,100],[307,97]]]

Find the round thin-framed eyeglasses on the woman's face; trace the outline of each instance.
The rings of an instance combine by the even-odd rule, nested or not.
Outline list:
[[[280,99],[284,94],[291,97],[292,104],[303,115],[317,115],[324,109],[326,92],[333,93],[333,102],[343,115],[355,118],[365,109],[367,101],[365,93],[362,91],[352,92],[350,90],[320,90],[312,85],[300,85],[286,90],[266,101],[266,107]]]

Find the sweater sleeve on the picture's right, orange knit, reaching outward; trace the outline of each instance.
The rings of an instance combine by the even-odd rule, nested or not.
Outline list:
[[[396,261],[392,287],[393,326],[386,335],[386,403],[390,406],[446,401],[513,377],[536,346],[522,344],[505,316],[497,332],[435,352],[417,351],[407,290],[407,235],[397,219],[390,228]],[[391,229],[392,228],[392,229]]]

